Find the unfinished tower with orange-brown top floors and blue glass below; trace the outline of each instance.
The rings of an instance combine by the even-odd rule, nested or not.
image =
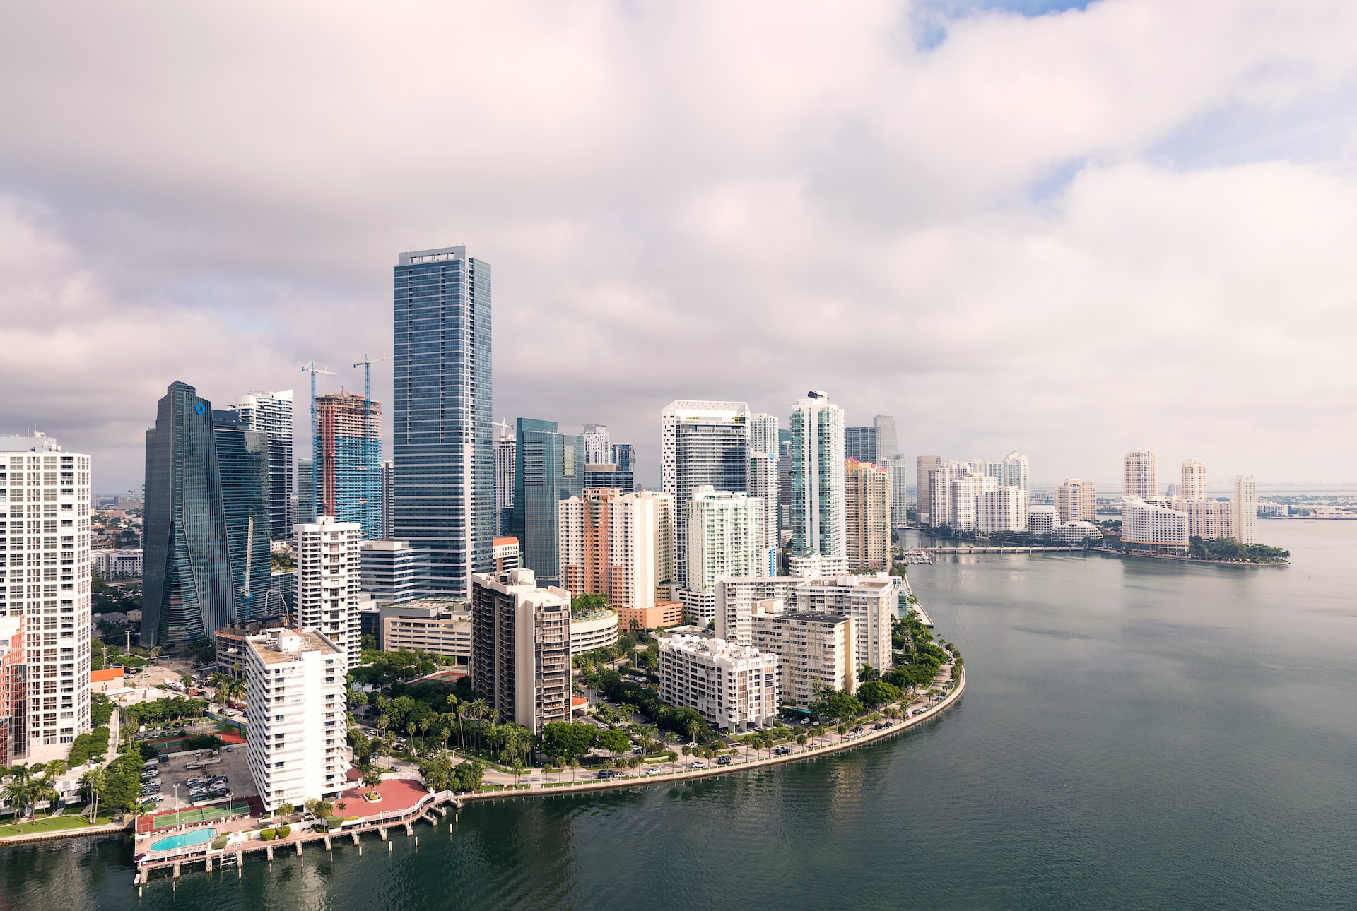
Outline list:
[[[381,407],[351,392],[316,396],[316,515],[381,538]]]

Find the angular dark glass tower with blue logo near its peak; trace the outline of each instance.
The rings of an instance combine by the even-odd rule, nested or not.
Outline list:
[[[212,403],[172,382],[147,431],[141,644],[182,648],[236,621]]]

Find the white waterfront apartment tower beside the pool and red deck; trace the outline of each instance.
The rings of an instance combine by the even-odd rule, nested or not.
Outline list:
[[[346,664],[345,649],[312,629],[246,637],[246,762],[266,812],[346,786]]]

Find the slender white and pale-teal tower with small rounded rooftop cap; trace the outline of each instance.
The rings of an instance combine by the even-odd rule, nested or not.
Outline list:
[[[791,550],[847,556],[844,411],[811,389],[791,405]]]

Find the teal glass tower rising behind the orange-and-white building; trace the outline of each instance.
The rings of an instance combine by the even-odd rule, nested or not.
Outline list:
[[[514,441],[513,535],[520,565],[554,586],[560,579],[556,504],[584,491],[585,441],[556,432],[554,420],[531,418],[518,419]]]

